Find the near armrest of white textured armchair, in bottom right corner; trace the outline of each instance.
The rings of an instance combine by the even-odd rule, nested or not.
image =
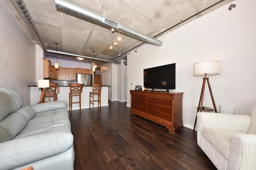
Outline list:
[[[238,134],[230,137],[227,169],[256,169],[256,135]]]

